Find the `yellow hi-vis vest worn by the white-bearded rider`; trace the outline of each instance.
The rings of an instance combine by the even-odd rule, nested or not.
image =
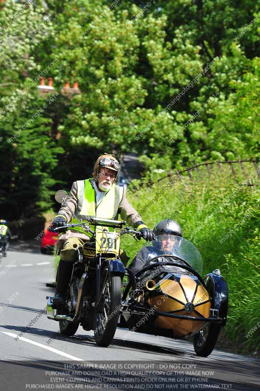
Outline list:
[[[114,183],[111,186],[111,189],[108,190],[106,195],[102,198],[101,202],[95,207],[95,189],[93,189],[90,179],[77,180],[77,208],[75,210],[75,216],[83,222],[86,222],[87,225],[90,225],[91,229],[94,231],[95,227],[88,223],[86,216],[95,216],[100,218],[112,218],[114,219],[118,215],[118,207],[123,198],[123,187],[117,186]],[[73,217],[72,223],[77,224],[78,221]],[[71,231],[80,232],[86,234],[81,227],[69,228]],[[87,233],[88,236],[92,236],[91,233]]]

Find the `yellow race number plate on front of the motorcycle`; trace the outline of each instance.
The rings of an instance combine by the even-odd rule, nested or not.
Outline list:
[[[116,232],[96,227],[96,253],[113,253],[119,255],[120,238]]]

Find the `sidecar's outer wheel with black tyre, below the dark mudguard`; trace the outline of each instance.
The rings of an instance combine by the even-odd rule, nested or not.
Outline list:
[[[220,328],[219,325],[211,324],[203,327],[195,334],[193,346],[198,356],[207,357],[211,354],[215,348]]]

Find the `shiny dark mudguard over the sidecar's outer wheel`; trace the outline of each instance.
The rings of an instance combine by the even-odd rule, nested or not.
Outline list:
[[[218,316],[223,319],[221,327],[227,323],[228,286],[221,274],[209,273],[204,278],[209,295],[212,298],[211,308],[218,310]]]

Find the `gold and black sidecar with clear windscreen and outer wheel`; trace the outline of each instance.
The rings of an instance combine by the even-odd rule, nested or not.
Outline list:
[[[206,357],[226,324],[227,283],[219,269],[202,279],[195,245],[171,237],[171,249],[163,250],[157,236],[152,246],[147,244],[152,258],[144,260],[145,266],[136,274],[128,269],[119,326],[174,339],[193,337],[196,354]]]

